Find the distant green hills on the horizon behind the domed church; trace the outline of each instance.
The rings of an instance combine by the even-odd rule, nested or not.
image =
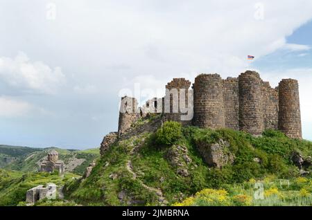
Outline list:
[[[60,160],[64,161],[65,172],[83,174],[85,168],[100,156],[99,149],[60,149],[58,147],[34,148],[0,145],[0,168],[34,172],[46,158],[48,152],[55,149]]]

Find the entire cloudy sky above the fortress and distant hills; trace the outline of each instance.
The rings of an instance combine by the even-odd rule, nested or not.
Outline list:
[[[312,140],[311,19],[311,0],[1,0],[0,144],[97,147],[121,91],[246,69],[299,80]]]

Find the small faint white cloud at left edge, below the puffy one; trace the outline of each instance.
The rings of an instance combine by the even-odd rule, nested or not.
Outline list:
[[[0,96],[0,117],[18,117],[28,114],[33,106],[28,102]]]

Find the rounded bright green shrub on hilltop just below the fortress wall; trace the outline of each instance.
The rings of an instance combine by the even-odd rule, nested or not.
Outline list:
[[[173,145],[182,138],[182,125],[179,122],[164,122],[156,131],[155,140],[160,145]]]

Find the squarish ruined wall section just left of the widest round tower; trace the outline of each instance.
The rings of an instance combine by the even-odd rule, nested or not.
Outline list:
[[[191,86],[191,82],[185,80],[185,78],[173,78],[171,82],[166,84],[166,95],[164,97],[165,120],[181,122],[182,125],[191,124],[191,120],[181,120],[181,116],[187,115],[185,109],[181,107],[189,107],[189,86]]]

